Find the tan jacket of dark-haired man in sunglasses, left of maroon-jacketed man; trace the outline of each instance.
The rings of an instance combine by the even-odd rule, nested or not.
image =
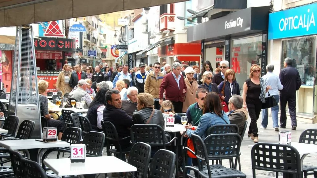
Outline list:
[[[159,98],[159,86],[161,85],[163,78],[164,74],[160,72],[159,78],[156,79],[154,71],[151,71],[145,79],[144,92],[151,94],[154,99]]]

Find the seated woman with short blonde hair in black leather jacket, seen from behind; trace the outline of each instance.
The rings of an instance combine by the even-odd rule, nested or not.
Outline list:
[[[164,128],[164,117],[161,111],[154,109],[154,98],[149,93],[138,95],[138,112],[132,117],[133,124],[156,124]]]

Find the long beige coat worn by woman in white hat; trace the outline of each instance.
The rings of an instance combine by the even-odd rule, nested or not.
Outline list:
[[[187,90],[185,93],[184,104],[183,104],[183,112],[186,112],[188,107],[194,103],[196,103],[196,91],[198,90],[198,83],[195,78],[193,78],[193,83],[189,83],[188,78],[185,78],[185,84],[187,86]]]

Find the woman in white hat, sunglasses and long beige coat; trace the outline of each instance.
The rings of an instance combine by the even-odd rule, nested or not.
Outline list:
[[[187,90],[185,93],[184,104],[183,104],[183,112],[186,112],[188,107],[194,103],[196,103],[196,91],[198,90],[198,83],[194,78],[195,70],[192,67],[187,67],[184,70],[186,78],[184,79],[185,84],[187,86]]]

